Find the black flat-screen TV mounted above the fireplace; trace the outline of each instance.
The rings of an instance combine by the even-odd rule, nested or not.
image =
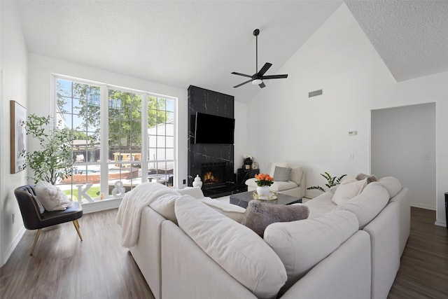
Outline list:
[[[195,144],[233,144],[235,119],[196,112]]]

